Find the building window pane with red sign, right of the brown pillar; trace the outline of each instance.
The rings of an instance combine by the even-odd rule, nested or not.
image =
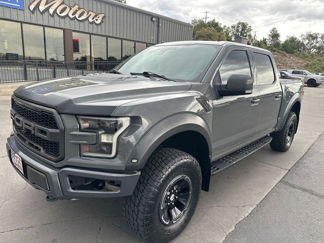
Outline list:
[[[73,32],[73,60],[90,61],[90,35]]]

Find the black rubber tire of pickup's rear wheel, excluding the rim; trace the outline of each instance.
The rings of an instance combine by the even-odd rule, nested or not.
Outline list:
[[[293,129],[291,126],[293,126]],[[291,111],[288,114],[284,128],[279,132],[274,132],[270,134],[270,136],[272,137],[272,141],[270,142],[270,147],[273,150],[277,150],[280,152],[287,151],[291,147],[292,142],[294,140],[296,128],[297,128],[297,115],[295,112]],[[289,136],[290,140],[287,141],[289,134],[291,135]]]

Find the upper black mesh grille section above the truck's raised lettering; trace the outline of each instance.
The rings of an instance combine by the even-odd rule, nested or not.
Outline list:
[[[44,125],[49,128],[58,129],[58,125],[56,119],[53,114],[47,112],[38,112],[31,109],[28,109],[20,104],[18,104],[15,100],[13,100],[12,108],[21,116],[32,120],[34,123]]]

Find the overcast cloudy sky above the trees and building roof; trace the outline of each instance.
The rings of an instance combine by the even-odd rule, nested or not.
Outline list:
[[[324,0],[127,0],[127,4],[184,22],[204,18],[204,12],[210,11],[208,17],[223,25],[248,22],[259,39],[267,37],[272,27],[281,39],[306,31],[324,32]]]

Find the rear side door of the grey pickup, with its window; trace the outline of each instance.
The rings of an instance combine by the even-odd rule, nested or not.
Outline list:
[[[257,84],[260,90],[260,110],[256,136],[262,137],[274,131],[278,121],[282,99],[279,76],[273,57],[268,52],[253,50]]]

